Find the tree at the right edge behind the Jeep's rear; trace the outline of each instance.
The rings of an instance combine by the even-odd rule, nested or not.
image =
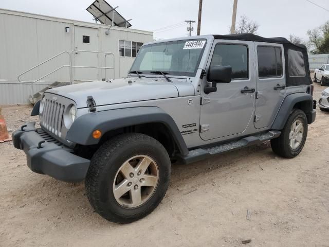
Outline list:
[[[329,54],[329,21],[307,30],[308,47],[311,54]]]

